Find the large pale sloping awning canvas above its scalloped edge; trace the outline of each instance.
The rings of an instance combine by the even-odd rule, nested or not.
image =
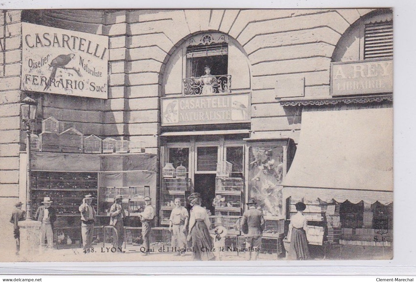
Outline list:
[[[392,191],[393,109],[302,112],[300,142],[282,185]]]

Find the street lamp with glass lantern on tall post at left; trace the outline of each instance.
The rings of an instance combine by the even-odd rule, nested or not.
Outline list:
[[[26,125],[26,218],[32,219],[32,200],[30,192],[30,124],[35,121],[37,101],[26,97],[21,101],[20,110],[22,112],[22,121]]]

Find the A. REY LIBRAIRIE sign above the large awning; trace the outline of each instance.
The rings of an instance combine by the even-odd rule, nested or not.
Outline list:
[[[393,92],[393,60],[366,60],[331,64],[331,94]]]

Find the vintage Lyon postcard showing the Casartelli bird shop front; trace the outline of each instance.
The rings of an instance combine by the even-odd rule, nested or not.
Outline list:
[[[0,11],[1,262],[391,260],[393,11]]]

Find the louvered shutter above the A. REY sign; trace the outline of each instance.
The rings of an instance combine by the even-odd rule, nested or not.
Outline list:
[[[393,57],[393,21],[365,25],[364,59]]]

